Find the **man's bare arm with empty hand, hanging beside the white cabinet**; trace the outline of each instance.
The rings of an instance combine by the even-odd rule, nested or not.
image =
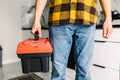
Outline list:
[[[111,14],[111,0],[100,0],[102,10],[104,12],[105,21],[103,23],[103,37],[109,38],[112,34],[112,14]]]

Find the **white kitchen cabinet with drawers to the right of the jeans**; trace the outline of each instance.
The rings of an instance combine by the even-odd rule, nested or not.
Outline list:
[[[92,80],[119,80],[120,29],[114,28],[110,39],[102,37],[102,29],[96,30],[94,55],[91,66]]]

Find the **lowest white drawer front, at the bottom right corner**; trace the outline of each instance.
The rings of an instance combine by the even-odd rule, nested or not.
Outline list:
[[[119,80],[119,71],[91,66],[91,80]]]

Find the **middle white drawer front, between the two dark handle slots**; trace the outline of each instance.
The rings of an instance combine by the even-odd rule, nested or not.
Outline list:
[[[119,70],[120,43],[95,42],[92,64]]]

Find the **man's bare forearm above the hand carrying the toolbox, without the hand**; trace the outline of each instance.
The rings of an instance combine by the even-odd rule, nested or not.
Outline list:
[[[47,0],[36,0],[34,23],[39,23]]]

